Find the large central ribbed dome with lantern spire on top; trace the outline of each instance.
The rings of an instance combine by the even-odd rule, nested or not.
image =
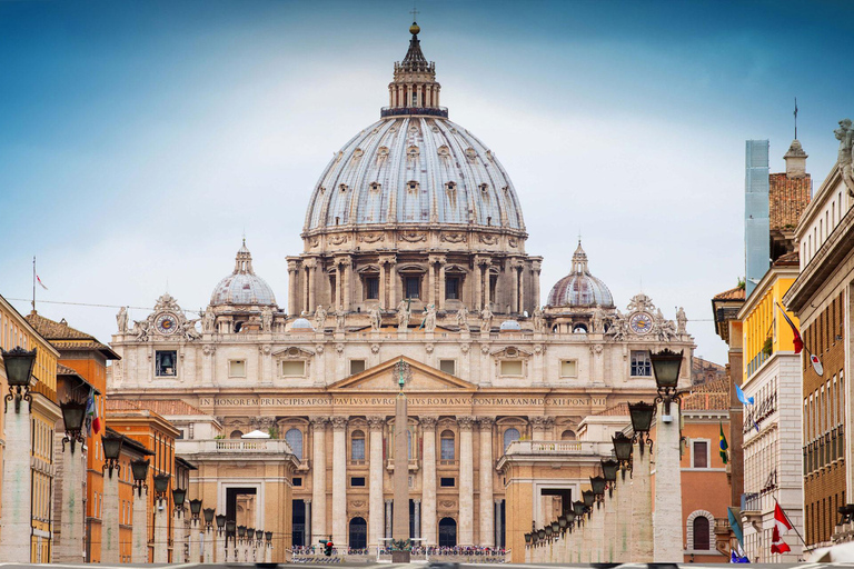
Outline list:
[[[305,231],[366,226],[450,224],[522,233],[525,222],[509,176],[495,154],[439,107],[439,83],[413,26],[395,64],[389,107],[324,170]]]

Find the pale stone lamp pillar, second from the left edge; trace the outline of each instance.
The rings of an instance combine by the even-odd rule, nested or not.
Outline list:
[[[8,417],[8,416],[7,416]],[[8,460],[8,459],[7,459]],[[71,445],[62,450],[62,539],[54,549],[54,561],[60,563],[82,563],[83,559],[83,506],[86,501],[86,452],[82,445],[71,452]],[[6,499],[6,497],[3,497]],[[3,542],[3,548],[6,543]],[[29,559],[28,559],[29,560]]]

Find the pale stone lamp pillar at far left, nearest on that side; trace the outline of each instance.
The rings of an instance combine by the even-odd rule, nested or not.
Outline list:
[[[14,563],[30,562],[30,535],[32,532],[32,510],[30,508],[32,473],[30,467],[32,422],[30,408],[32,403],[21,401],[19,411],[14,410],[14,403],[3,401],[6,408],[6,449],[3,451],[3,528],[0,549],[3,561]],[[109,486],[118,482],[112,480]],[[105,499],[107,498],[107,479],[103,481]],[[105,502],[106,506],[106,502]],[[118,487],[113,500],[116,508],[115,530],[118,542],[119,531],[119,500]],[[107,510],[105,508],[105,516]],[[105,520],[106,521],[106,520]],[[64,537],[64,536],[63,536]],[[118,562],[118,558],[116,559]]]

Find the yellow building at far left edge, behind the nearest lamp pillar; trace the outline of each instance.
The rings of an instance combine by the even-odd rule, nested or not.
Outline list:
[[[26,350],[36,348],[37,356],[32,369],[34,385],[30,388],[30,452],[28,456],[12,456],[16,433],[7,430],[9,413],[14,413],[13,403],[8,403],[0,415],[0,432],[3,445],[0,446],[0,460],[3,463],[3,479],[0,480],[0,516],[3,518],[3,529],[0,533],[0,549],[4,561],[18,562],[50,562],[53,527],[53,432],[57,421],[61,418],[57,400],[57,360],[59,352],[42,338],[34,328],[3,297],[0,296],[0,348],[11,351],[21,347]],[[8,390],[6,368],[0,367],[0,389]],[[21,412],[24,412],[24,402]],[[21,488],[29,488],[29,507],[23,497],[23,509],[29,510],[29,523],[20,522],[23,509],[16,508],[18,500],[9,499],[13,491],[12,476],[21,469],[31,470],[30,481],[21,482]],[[14,477],[20,478],[20,477]],[[19,485],[16,485],[19,486]],[[22,539],[27,536],[26,539]],[[29,549],[29,555],[27,550]]]

